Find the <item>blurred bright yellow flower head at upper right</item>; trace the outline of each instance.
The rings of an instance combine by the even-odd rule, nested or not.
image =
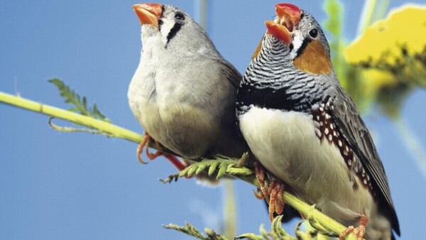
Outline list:
[[[426,7],[403,6],[385,20],[366,28],[344,51],[346,61],[359,65],[395,65],[405,55],[426,50]]]

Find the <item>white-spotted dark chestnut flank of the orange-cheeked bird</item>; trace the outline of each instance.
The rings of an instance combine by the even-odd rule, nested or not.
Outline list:
[[[375,195],[373,185],[371,185],[370,175],[366,173],[361,161],[354,154],[354,151],[352,151],[346,139],[341,136],[339,129],[336,129],[336,124],[334,124],[332,115],[330,114],[330,111],[333,109],[334,107],[329,103],[327,103],[327,105],[316,104],[312,107],[312,120],[314,121],[315,135],[320,138],[321,143],[327,141],[326,143],[337,146],[349,170],[353,171],[361,180],[362,185],[368,187],[371,193]],[[354,190],[358,189],[356,182],[354,182],[353,187]]]

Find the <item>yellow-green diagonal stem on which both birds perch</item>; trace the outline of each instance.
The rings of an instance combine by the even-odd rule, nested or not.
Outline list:
[[[89,116],[83,116],[80,114],[75,114],[71,111],[65,111],[63,109],[58,109],[56,107],[51,107],[45,104],[40,104],[38,102],[33,102],[28,99],[23,99],[19,96],[13,96],[11,94],[6,94],[0,92],[0,102],[4,104],[9,104],[14,107],[20,107],[22,109],[27,109],[30,111],[35,111],[40,114],[45,114],[48,116],[53,116],[58,119],[63,119],[65,121],[70,121],[81,126],[87,126],[89,129],[96,129],[99,133],[107,135],[114,138],[122,138],[127,141],[132,141],[134,143],[140,143],[143,140],[143,136],[133,131],[121,128],[114,124],[109,124],[105,121],[100,121]],[[154,143],[151,143],[151,148],[158,149]],[[169,151],[166,148],[158,149],[160,151],[165,151],[167,153],[175,154]],[[245,158],[247,156],[244,156]],[[211,158],[209,160],[203,160],[202,162],[192,164],[185,168],[178,175],[170,176],[166,182],[170,182],[173,179],[182,177],[185,175],[191,176],[201,173],[204,169],[209,167],[209,175],[216,173],[217,178],[221,178],[225,173],[233,175],[236,178],[249,182],[251,185],[259,187],[258,181],[253,175],[253,172],[248,168],[239,168],[238,159],[229,159],[224,156],[217,156],[215,160]],[[310,219],[310,224],[323,232],[332,232],[335,235],[339,235],[346,227],[342,226],[338,222],[334,221],[330,217],[326,216],[322,212],[315,209],[315,207],[310,206],[309,204],[302,202],[302,200],[297,199],[294,195],[291,195],[288,192],[284,192],[283,200],[285,203],[290,204],[301,214]],[[351,234],[352,235],[352,234]]]

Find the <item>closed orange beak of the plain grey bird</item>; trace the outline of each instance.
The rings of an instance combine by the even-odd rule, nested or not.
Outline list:
[[[158,18],[163,15],[162,4],[135,4],[133,9],[138,15],[141,25],[151,24],[155,28],[158,28]]]

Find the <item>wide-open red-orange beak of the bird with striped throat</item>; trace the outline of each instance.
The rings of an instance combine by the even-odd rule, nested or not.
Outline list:
[[[283,40],[285,43],[290,43],[290,33],[293,32],[294,27],[300,21],[300,9],[293,4],[276,4],[275,12],[277,18],[274,21],[266,21],[266,33]]]

